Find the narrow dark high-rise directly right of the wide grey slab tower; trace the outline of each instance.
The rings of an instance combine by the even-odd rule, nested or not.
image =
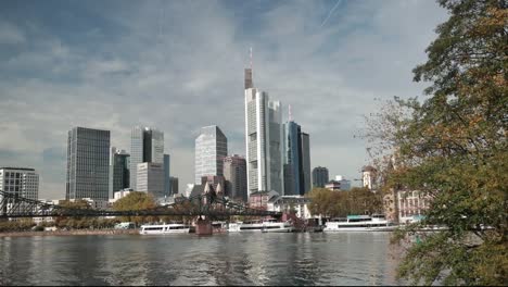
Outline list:
[[[125,150],[111,148],[110,162],[110,198],[115,191],[130,186],[130,154]]]

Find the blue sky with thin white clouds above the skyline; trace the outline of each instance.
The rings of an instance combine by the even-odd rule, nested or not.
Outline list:
[[[424,97],[412,82],[436,25],[430,0],[0,1],[0,166],[34,167],[39,198],[65,197],[67,130],[165,134],[180,192],[194,139],[218,125],[245,154],[243,70],[310,135],[310,165],[360,178],[358,135],[377,99]],[[357,185],[358,182],[353,182]]]

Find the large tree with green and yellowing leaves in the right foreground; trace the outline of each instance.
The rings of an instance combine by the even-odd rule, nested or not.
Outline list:
[[[398,275],[414,284],[505,285],[508,282],[508,10],[505,0],[440,0],[439,25],[416,82],[424,100],[395,98],[368,122],[384,189],[432,198],[424,225],[446,230],[411,246]]]

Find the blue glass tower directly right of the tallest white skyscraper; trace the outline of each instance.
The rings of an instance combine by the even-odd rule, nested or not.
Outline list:
[[[310,190],[309,136],[293,121],[284,124],[284,195],[303,196]]]

